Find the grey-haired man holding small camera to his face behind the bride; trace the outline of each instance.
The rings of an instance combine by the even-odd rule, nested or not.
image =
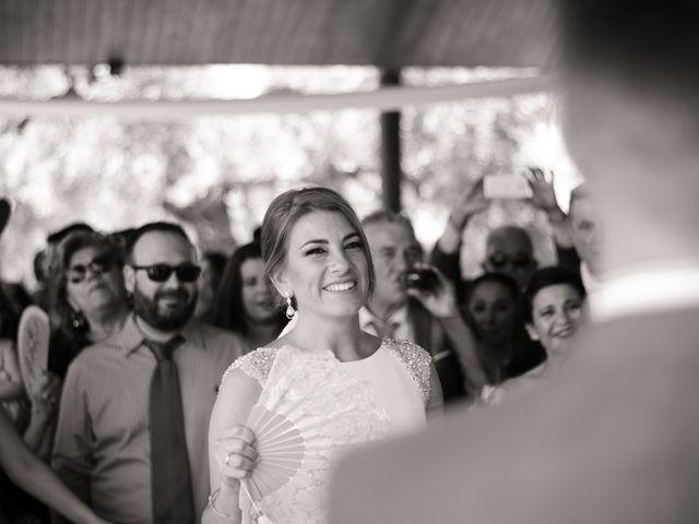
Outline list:
[[[359,311],[362,329],[414,342],[429,352],[446,402],[477,395],[485,374],[476,342],[459,313],[449,281],[422,261],[423,251],[410,221],[379,211],[367,216],[363,226],[377,283]]]

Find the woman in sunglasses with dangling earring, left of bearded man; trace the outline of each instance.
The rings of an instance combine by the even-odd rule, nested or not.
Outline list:
[[[119,247],[97,233],[76,231],[51,261],[49,370],[61,379],[83,347],[121,330],[129,314]]]

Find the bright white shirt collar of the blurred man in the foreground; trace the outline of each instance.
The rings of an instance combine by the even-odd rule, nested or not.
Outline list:
[[[593,322],[696,307],[699,260],[645,264],[605,275],[589,301]]]

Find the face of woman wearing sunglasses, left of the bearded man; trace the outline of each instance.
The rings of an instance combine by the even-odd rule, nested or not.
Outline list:
[[[70,258],[66,290],[70,305],[86,314],[116,308],[126,296],[118,264],[97,247],[80,249]]]

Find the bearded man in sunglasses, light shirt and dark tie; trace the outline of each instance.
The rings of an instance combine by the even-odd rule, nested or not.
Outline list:
[[[209,496],[206,432],[217,386],[251,348],[192,318],[201,270],[181,227],[140,227],[126,262],[133,314],[69,369],[54,465],[107,520],[198,522]]]

